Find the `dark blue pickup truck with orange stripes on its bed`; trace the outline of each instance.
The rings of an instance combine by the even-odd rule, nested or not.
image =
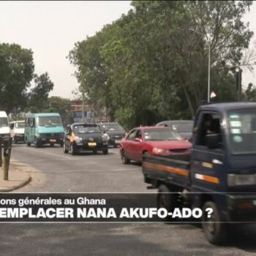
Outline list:
[[[190,161],[145,156],[142,170],[148,188],[158,189],[159,207],[202,208],[206,238],[222,244],[234,222],[256,220],[256,103],[200,106]]]

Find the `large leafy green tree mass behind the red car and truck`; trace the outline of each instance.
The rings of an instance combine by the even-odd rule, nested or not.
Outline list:
[[[127,15],[69,53],[96,110],[126,127],[192,118],[207,99],[236,100],[236,67],[252,31],[241,20],[252,1],[132,1]]]

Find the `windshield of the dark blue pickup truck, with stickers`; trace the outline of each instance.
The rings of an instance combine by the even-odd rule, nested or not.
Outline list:
[[[256,154],[256,113],[238,110],[228,113],[230,148],[233,154]]]

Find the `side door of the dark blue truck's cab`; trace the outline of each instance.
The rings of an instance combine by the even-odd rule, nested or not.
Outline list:
[[[212,116],[211,130],[206,129],[206,115]],[[225,143],[224,129],[221,126],[220,113],[200,113],[196,123],[196,134],[193,136],[193,151],[191,159],[192,184],[201,189],[217,191],[225,186],[222,176],[225,173]],[[219,135],[219,147],[208,148],[207,136]]]

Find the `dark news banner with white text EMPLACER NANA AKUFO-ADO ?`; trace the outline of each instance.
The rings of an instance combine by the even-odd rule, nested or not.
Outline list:
[[[156,199],[156,193],[1,193],[0,222],[194,222],[203,215],[201,208],[167,211]]]

